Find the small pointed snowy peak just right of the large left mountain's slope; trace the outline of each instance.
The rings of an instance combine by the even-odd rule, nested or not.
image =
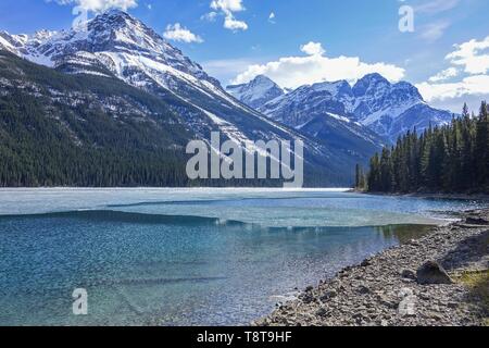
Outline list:
[[[248,84],[227,86],[226,91],[253,109],[285,94],[276,83],[264,75],[256,76]]]

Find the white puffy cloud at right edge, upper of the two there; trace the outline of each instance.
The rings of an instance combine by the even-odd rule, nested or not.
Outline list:
[[[454,46],[456,50],[447,55],[454,65],[464,66],[466,73],[486,74],[489,71],[489,36],[477,41],[475,39]]]

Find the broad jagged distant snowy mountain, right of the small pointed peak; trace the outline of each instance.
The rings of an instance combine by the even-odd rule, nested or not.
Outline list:
[[[379,74],[366,75],[353,87],[346,80],[302,86],[259,105],[258,110],[296,128],[322,116],[329,122],[341,121],[343,126],[367,127],[390,141],[414,127],[423,130],[429,124],[449,123],[453,116],[430,108],[413,85],[391,84]]]

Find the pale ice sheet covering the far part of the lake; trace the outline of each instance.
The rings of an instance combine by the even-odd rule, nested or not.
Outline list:
[[[384,197],[341,189],[0,189],[0,215],[77,210],[215,217],[265,227],[434,224],[476,201]]]

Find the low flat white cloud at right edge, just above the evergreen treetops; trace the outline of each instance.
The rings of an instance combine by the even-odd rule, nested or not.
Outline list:
[[[426,101],[447,100],[464,96],[489,95],[489,76],[474,75],[450,84],[422,83],[416,85]]]

